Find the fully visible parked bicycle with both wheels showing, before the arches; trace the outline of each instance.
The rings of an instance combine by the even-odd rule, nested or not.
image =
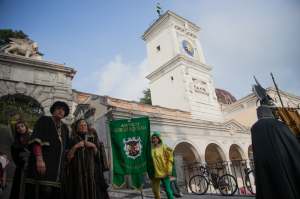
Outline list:
[[[203,169],[202,175],[194,175],[189,182],[190,190],[197,195],[202,195],[207,192],[208,185],[213,185],[215,189],[219,189],[220,193],[225,196],[232,196],[238,189],[237,180],[230,174],[219,176],[219,171],[223,168],[216,168],[218,174],[206,171],[206,168],[200,165],[200,170]],[[209,175],[211,174],[212,179]]]

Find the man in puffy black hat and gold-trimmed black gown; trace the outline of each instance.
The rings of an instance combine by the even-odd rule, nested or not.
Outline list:
[[[26,182],[39,185],[38,198],[58,199],[65,167],[65,149],[69,129],[62,118],[69,115],[69,106],[57,101],[51,108],[52,117],[42,116],[36,122],[28,148]]]

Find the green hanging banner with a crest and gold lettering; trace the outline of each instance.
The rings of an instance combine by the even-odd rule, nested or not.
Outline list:
[[[109,122],[113,155],[113,185],[121,188],[125,176],[131,176],[132,187],[140,190],[142,174],[154,178],[151,156],[150,121],[148,117],[114,120]]]

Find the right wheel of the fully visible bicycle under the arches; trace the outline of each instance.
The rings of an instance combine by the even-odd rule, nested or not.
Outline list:
[[[221,194],[225,196],[232,196],[238,188],[235,177],[230,174],[222,175],[219,179],[218,185]]]

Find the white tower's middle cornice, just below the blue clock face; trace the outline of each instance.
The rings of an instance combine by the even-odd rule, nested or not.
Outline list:
[[[188,67],[193,68],[194,70],[206,72],[209,74],[209,71],[212,70],[212,67],[201,63],[197,60],[191,59],[185,55],[178,54],[174,58],[172,58],[170,61],[150,73],[148,76],[146,76],[147,79],[153,81],[157,79],[158,77],[164,75],[167,71],[170,71],[177,67],[180,64],[186,64]]]

